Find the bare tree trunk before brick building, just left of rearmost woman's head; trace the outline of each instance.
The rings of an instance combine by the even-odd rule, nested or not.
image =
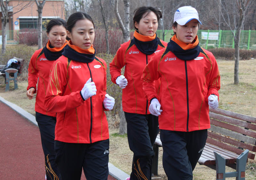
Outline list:
[[[43,27],[42,27],[42,19],[43,19],[43,8],[44,8],[44,4],[45,4],[46,0],[43,0],[42,3],[38,2],[37,0],[35,0],[36,2],[36,6],[37,6],[37,12],[38,12],[38,19],[37,19],[37,28],[38,28],[38,49],[41,49],[43,40],[42,40],[42,34],[43,34]]]

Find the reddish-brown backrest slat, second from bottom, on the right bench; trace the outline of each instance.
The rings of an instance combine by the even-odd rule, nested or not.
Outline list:
[[[208,137],[212,138],[212,139],[220,140],[222,142],[226,142],[228,144],[232,144],[232,145],[237,146],[239,148],[244,148],[244,149],[248,149],[249,151],[256,152],[256,146],[252,146],[250,144],[245,144],[243,142],[233,140],[233,139],[230,139],[228,137],[224,137],[224,136],[221,136],[219,134],[212,133],[210,131],[208,131]]]

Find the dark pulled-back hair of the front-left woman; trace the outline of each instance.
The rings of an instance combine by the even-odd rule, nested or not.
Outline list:
[[[91,18],[90,15],[88,15],[84,12],[75,12],[75,13],[71,14],[68,18],[67,30],[69,32],[71,32],[72,28],[75,26],[76,22],[79,21],[79,20],[82,20],[82,19],[88,19],[89,21],[91,21],[92,24],[93,24],[93,28],[95,28],[94,23],[93,23],[92,18]]]

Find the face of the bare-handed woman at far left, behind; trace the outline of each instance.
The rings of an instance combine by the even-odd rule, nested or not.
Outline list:
[[[61,47],[66,42],[67,30],[63,25],[54,25],[47,37],[53,47]]]

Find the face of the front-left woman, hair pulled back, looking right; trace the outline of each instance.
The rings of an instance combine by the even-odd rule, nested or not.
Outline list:
[[[94,27],[90,20],[81,19],[76,21],[72,32],[67,31],[72,44],[82,49],[89,49],[94,40]]]

